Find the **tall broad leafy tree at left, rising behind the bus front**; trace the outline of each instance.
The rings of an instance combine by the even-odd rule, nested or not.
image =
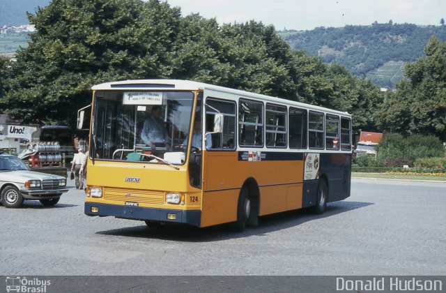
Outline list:
[[[180,12],[156,0],[54,0],[29,14],[36,33],[17,52],[1,101],[24,121],[73,123],[93,84],[163,77]]]

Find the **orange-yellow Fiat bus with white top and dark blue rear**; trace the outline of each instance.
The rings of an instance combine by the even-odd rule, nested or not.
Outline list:
[[[346,112],[184,80],[92,90],[86,215],[243,231],[350,195]]]

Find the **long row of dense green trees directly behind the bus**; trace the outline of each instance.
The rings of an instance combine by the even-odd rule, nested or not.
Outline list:
[[[176,78],[298,100],[353,114],[373,128],[378,88],[337,64],[291,51],[259,22],[219,25],[157,0],[53,0],[17,54],[0,102],[24,121],[74,123],[93,84]]]

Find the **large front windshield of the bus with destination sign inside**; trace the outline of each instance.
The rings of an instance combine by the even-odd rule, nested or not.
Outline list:
[[[91,157],[185,162],[192,91],[97,91]]]

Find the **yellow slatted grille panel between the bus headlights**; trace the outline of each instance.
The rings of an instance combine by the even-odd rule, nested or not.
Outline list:
[[[153,190],[104,188],[104,199],[118,202],[139,202],[141,204],[163,204],[164,193]]]

